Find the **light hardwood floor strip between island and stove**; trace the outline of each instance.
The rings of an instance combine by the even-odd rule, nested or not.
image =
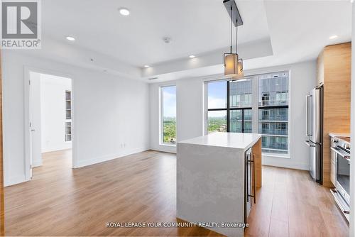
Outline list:
[[[349,236],[329,188],[307,171],[263,166],[257,197],[246,236]]]

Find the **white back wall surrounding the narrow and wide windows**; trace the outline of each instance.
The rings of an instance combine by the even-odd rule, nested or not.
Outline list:
[[[308,147],[305,145],[305,96],[316,85],[316,62],[300,62],[293,65],[246,71],[246,75],[290,70],[290,158],[263,158],[266,165],[291,167],[308,170]],[[203,104],[204,81],[221,77],[198,77],[180,79],[168,83],[155,83],[150,86],[151,98],[151,148],[176,152],[172,148],[159,144],[159,87],[176,84],[177,87],[177,140],[185,140],[204,134]]]

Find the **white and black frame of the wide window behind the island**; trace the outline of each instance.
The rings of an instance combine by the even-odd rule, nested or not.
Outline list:
[[[262,153],[263,156],[266,157],[271,157],[271,158],[287,158],[290,159],[291,155],[291,150],[292,150],[292,144],[291,144],[291,103],[292,103],[292,92],[291,92],[291,81],[292,81],[292,73],[291,73],[291,68],[290,67],[275,67],[275,68],[268,68],[268,69],[261,69],[261,70],[249,70],[245,71],[245,79],[252,79],[252,106],[251,107],[241,107],[241,108],[229,108],[229,111],[231,110],[236,110],[236,109],[251,109],[252,111],[252,133],[258,133],[258,110],[259,106],[258,105],[258,88],[259,88],[259,81],[260,79],[254,79],[255,77],[258,77],[259,75],[266,75],[266,74],[273,74],[273,73],[279,73],[279,72],[288,72],[288,153],[285,154],[280,154],[280,153]],[[219,81],[231,81],[231,79],[228,79],[224,77],[224,75],[214,75],[211,77],[205,77],[203,82],[204,82],[204,134],[208,134],[208,111],[223,111],[226,109],[208,109],[208,83],[209,82],[219,82]],[[229,84],[229,83],[227,83]],[[227,108],[230,106],[229,105],[229,88],[227,88]],[[285,105],[281,105],[285,106]],[[264,109],[264,108],[261,108]],[[271,109],[278,109],[277,106],[272,106]],[[229,131],[229,111],[227,111],[227,131]],[[242,125],[244,126],[244,116],[243,116],[243,123]]]

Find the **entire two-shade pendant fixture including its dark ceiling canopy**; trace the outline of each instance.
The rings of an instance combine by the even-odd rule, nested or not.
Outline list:
[[[231,18],[231,50],[223,55],[224,75],[232,80],[244,78],[243,59],[238,55],[238,26],[243,25],[243,20],[239,14],[234,0],[225,0],[224,6]],[[236,27],[236,53],[232,53],[232,23]]]

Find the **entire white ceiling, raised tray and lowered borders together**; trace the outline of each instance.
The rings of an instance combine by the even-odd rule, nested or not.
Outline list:
[[[246,70],[314,60],[325,45],[351,40],[350,0],[236,4],[244,21],[239,53],[249,53],[242,55]],[[121,16],[120,7],[131,15]],[[146,82],[223,71],[230,18],[222,0],[45,0],[42,12],[43,49],[28,52],[34,55]],[[197,58],[188,58],[192,54]]]

